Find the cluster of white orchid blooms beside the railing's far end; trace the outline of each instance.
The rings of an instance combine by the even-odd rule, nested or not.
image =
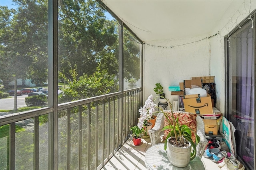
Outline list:
[[[138,121],[138,127],[141,129],[148,123],[148,120],[154,116],[156,112],[156,104],[154,103],[153,95],[148,96],[148,99],[145,101],[145,105],[140,107],[140,118]]]

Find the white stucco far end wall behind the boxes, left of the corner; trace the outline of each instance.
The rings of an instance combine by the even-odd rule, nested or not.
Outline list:
[[[172,48],[144,44],[144,99],[150,94],[157,96],[153,90],[156,83],[162,84],[166,97],[170,98],[169,86],[191,77],[210,75],[210,40],[194,42],[204,38],[151,42],[161,46],[189,43]]]

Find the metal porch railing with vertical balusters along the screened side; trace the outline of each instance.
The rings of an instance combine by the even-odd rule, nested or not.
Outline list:
[[[138,121],[142,88],[58,105],[58,169],[100,169]],[[53,157],[48,115],[53,108],[0,116],[0,169],[48,169]],[[20,127],[25,128],[22,131]],[[54,133],[56,134],[56,133]],[[56,141],[54,142],[56,144]],[[55,153],[56,154],[56,153]]]

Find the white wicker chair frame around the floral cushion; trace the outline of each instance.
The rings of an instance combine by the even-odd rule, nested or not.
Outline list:
[[[165,111],[168,111],[168,110],[165,110]],[[175,111],[175,112],[176,113],[184,113],[184,114],[188,113],[188,112],[181,112],[181,111]],[[162,128],[164,128],[164,121],[165,121],[164,114],[158,113],[158,115],[156,117],[155,126],[152,129],[148,130],[152,145],[162,142],[160,132],[162,131]],[[197,148],[197,156],[202,158],[202,155],[204,154],[204,148],[208,144],[208,140],[205,138],[204,122],[200,116],[196,117],[196,134],[200,137],[200,142],[198,143],[198,145],[196,147]]]

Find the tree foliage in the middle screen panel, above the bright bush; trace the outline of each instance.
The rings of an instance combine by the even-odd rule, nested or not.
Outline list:
[[[69,71],[93,75],[99,63],[110,74],[117,74],[118,34],[116,23],[106,20],[98,3],[88,0],[62,0],[59,3],[59,71],[73,80]]]

